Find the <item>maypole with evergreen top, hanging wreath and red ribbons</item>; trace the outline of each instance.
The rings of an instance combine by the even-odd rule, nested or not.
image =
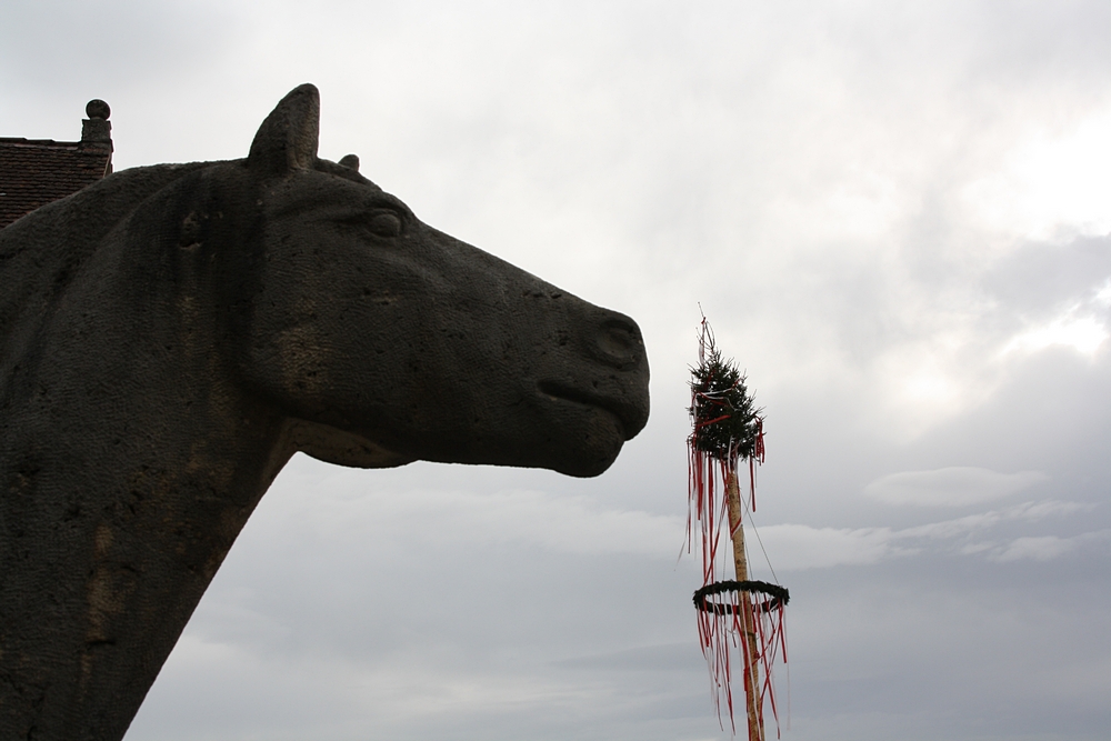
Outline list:
[[[755,467],[763,462],[763,417],[753,405],[744,375],[724,361],[702,318],[699,332],[699,363],[691,368],[690,413],[693,430],[687,439],[689,460],[690,517],[688,538],[693,541],[694,523],[700,532],[702,587],[694,592],[699,639],[710,667],[714,704],[720,720],[722,705],[733,720],[732,654],[740,659],[744,689],[744,714],[749,741],[765,741],[764,705],[775,719],[779,709],[772,678],[777,659],[787,661],[783,608],[790,593],[783,587],[749,579],[744,547],[743,503],[737,467],[747,461],[749,495],[755,510]],[[728,524],[732,543],[733,579],[718,579],[722,524]],[[727,559],[721,559],[727,560]],[[724,572],[724,567],[721,569]]]

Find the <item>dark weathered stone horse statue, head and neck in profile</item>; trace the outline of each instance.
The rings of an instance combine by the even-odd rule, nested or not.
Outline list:
[[[637,324],[317,157],[119,172],[0,230],[0,739],[116,741],[297,451],[597,475],[648,420]]]

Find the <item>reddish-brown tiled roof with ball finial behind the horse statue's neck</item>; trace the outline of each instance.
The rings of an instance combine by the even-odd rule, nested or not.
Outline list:
[[[80,141],[0,138],[0,228],[112,171],[111,110],[93,100],[86,111]]]

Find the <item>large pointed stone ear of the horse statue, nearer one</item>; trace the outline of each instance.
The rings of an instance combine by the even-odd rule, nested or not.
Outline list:
[[[309,170],[320,139],[320,93],[313,84],[293,88],[259,127],[247,164],[266,174]]]

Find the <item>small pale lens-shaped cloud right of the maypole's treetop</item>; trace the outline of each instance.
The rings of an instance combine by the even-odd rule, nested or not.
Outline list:
[[[890,504],[964,507],[1001,499],[1045,480],[1045,474],[1039,471],[998,473],[952,467],[891,473],[864,487],[864,493]]]

